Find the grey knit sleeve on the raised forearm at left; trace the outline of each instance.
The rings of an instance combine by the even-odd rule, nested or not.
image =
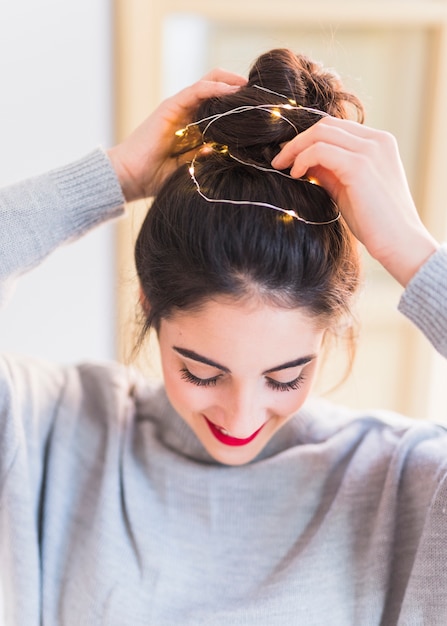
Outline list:
[[[0,303],[14,278],[59,245],[120,215],[124,197],[101,149],[0,189]]]

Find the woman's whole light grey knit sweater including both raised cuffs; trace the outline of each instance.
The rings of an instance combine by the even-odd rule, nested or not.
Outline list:
[[[101,151],[0,191],[3,287],[118,215]],[[400,308],[447,353],[447,250]],[[310,401],[252,463],[212,460],[117,364],[0,358],[7,626],[447,624],[447,436]]]

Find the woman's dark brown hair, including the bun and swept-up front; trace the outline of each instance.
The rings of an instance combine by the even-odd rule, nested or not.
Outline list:
[[[354,113],[363,120],[360,102],[333,73],[282,49],[255,62],[245,87],[205,101],[196,119],[244,105],[287,102],[253,85],[330,115]],[[299,132],[321,117],[296,108],[284,114]],[[202,123],[201,130],[205,127]],[[204,139],[228,146],[244,161],[271,167],[280,145],[294,135],[283,119],[250,110],[220,117]],[[316,222],[336,214],[323,188],[240,164],[217,150],[198,157],[196,173],[212,198],[267,202]],[[360,271],[356,243],[342,219],[313,226],[250,204],[208,203],[187,166],[178,168],[155,198],[136,242],[135,261],[148,303],[142,336],[176,311],[197,309],[222,295],[241,299],[255,293],[278,306],[303,307],[326,322],[339,320],[349,313]]]

